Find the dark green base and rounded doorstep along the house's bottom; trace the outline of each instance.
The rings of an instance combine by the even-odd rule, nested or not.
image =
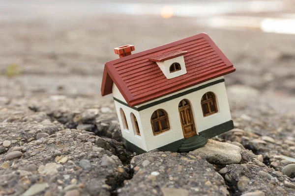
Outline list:
[[[172,142],[170,144],[167,144],[162,147],[158,147],[161,151],[171,151],[171,152],[187,152],[194,149],[197,149],[199,147],[203,147],[207,144],[207,139],[215,137],[217,135],[220,135],[222,133],[225,133],[231,129],[234,128],[234,122],[228,121],[222,124],[218,124],[216,126],[213,126],[211,128],[208,128],[204,131],[201,131],[199,135],[192,136],[187,139],[180,139],[175,142]],[[205,140],[204,140],[205,139]],[[123,143],[126,147],[126,149],[130,152],[136,152],[137,154],[142,154],[147,151],[143,150],[140,147],[137,147],[136,145],[132,144],[128,140],[123,138]]]

